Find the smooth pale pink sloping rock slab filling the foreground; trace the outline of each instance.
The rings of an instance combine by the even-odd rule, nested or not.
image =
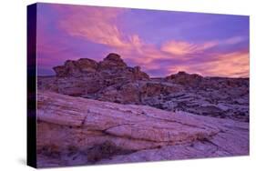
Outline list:
[[[37,165],[72,166],[249,154],[249,125],[37,92]]]

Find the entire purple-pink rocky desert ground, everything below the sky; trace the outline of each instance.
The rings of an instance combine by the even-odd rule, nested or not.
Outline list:
[[[37,78],[37,165],[249,154],[249,78],[152,78],[118,54]]]

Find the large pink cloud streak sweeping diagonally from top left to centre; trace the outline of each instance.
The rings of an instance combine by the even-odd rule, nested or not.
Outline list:
[[[124,58],[131,58],[141,65],[148,65],[155,58],[168,57],[155,45],[146,44],[138,35],[122,32],[118,27],[118,15],[122,15],[128,9],[56,6],[56,10],[67,13],[59,22],[59,26],[68,35],[107,45],[112,51],[118,52]]]

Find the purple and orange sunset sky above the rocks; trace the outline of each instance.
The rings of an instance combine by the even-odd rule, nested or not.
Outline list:
[[[148,75],[249,77],[249,16],[37,4],[37,73],[117,53]]]

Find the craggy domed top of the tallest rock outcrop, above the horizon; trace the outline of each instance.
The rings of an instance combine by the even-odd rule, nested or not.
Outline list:
[[[56,77],[79,77],[79,76],[94,76],[117,74],[116,77],[126,76],[128,79],[148,79],[146,73],[140,71],[138,66],[128,67],[118,54],[111,53],[103,59],[96,62],[92,59],[81,58],[77,61],[67,60],[64,65],[55,66],[54,71]],[[120,73],[121,72],[121,73]],[[120,74],[120,75],[118,75]]]

